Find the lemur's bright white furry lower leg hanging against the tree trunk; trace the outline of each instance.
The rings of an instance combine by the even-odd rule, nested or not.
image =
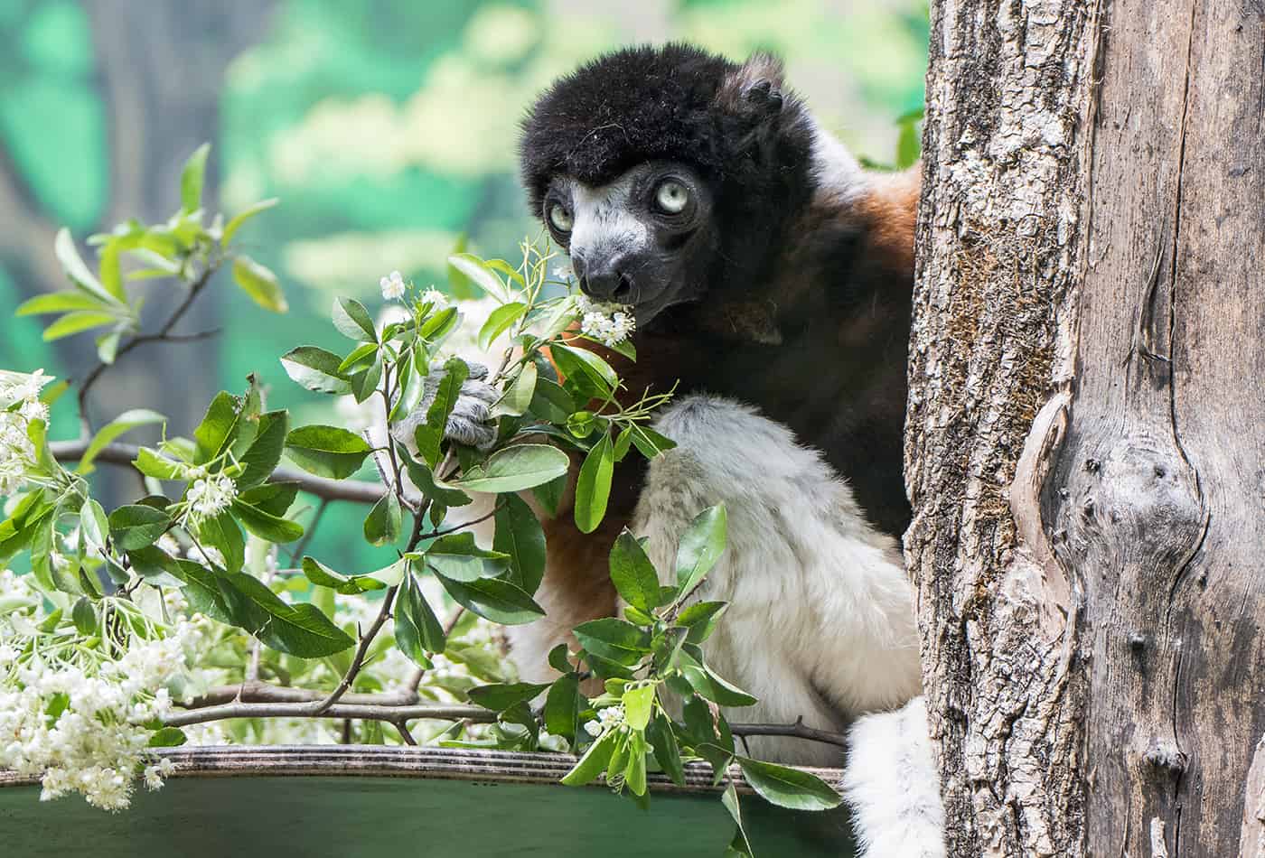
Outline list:
[[[940,776],[923,698],[858,719],[848,744],[842,787],[861,857],[944,858]]]

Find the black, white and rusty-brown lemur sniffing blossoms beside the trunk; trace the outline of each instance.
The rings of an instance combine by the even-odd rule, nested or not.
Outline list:
[[[630,394],[679,382],[657,422],[677,446],[619,465],[598,531],[576,528],[569,498],[545,522],[548,617],[509,629],[520,672],[548,681],[549,650],[616,613],[606,570],[622,528],[670,574],[686,526],[725,503],[727,548],[697,596],[730,603],[708,662],[759,699],[734,715],[848,730],[842,786],[867,854],[942,855],[897,545],[917,174],[861,171],[773,57],[684,44],[558,80],[524,120],[520,160],[581,289],[634,308],[638,360],[617,365]],[[471,432],[483,399],[469,397],[476,420],[454,416]],[[799,739],[751,748],[842,762]]]

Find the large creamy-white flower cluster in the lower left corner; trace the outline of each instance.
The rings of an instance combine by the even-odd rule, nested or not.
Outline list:
[[[105,810],[129,805],[138,775],[161,787],[172,763],[148,747],[147,724],[171,708],[166,686],[186,670],[202,624],[159,625],[123,607],[137,612],[126,625],[149,637],[118,642],[126,651],[110,657],[71,625],[46,631],[39,594],[23,577],[0,572],[0,593],[29,596],[0,618],[0,768],[39,776],[42,800],[78,792]]]

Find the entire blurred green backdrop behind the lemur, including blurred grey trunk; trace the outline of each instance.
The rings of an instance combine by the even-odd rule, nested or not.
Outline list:
[[[281,197],[242,235],[291,310],[259,310],[221,274],[182,325],[221,335],[129,355],[96,388],[96,421],[148,406],[186,433],[215,390],[256,372],[269,407],[330,422],[329,401],[291,384],[277,356],[343,346],[331,297],[381,306],[391,269],[443,288],[460,235],[512,257],[536,234],[515,176],[524,107],[593,54],[665,39],[779,53],[822,123],[877,162],[893,160],[896,118],[922,104],[926,0],[0,0],[0,368],[73,378],[95,363],[91,336],[46,344],[47,320],[11,310],[63,284],[59,225],[83,248],[128,216],[166,219],[183,159],[210,140],[209,201],[231,214]],[[175,297],[152,283],[151,318]],[[54,437],[77,432],[70,399]],[[95,479],[121,479],[111,470]],[[328,517],[316,548],[330,562],[377,562],[343,538],[362,516]]]

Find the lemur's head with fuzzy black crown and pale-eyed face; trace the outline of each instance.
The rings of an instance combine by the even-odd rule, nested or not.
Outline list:
[[[811,192],[815,134],[767,54],[636,47],[558,80],[524,120],[520,159],[581,288],[645,325],[768,277]]]

